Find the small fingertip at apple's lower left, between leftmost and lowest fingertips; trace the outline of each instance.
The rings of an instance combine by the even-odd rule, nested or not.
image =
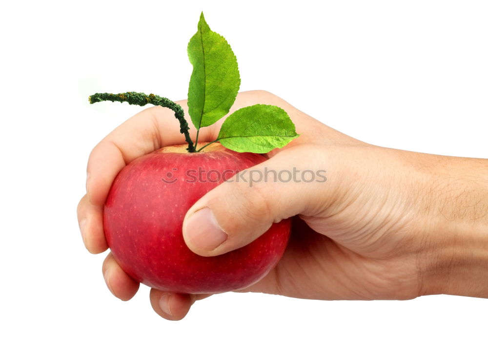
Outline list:
[[[112,294],[122,301],[128,301],[139,290],[139,282],[127,275],[109,253],[102,266],[103,278]]]

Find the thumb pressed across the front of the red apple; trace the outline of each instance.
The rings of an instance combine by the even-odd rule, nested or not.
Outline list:
[[[320,209],[328,185],[325,167],[310,149],[305,156],[300,149],[285,149],[210,190],[184,218],[188,248],[220,255],[251,243],[272,223]]]

